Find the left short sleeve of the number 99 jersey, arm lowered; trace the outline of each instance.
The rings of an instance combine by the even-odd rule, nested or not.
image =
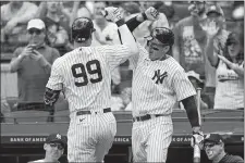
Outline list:
[[[57,59],[51,68],[51,75],[49,77],[48,84],[46,85],[47,88],[52,90],[62,90],[63,86],[63,76],[62,76],[62,68],[60,58]]]

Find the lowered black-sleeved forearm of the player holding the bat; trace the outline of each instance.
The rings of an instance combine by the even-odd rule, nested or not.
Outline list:
[[[186,114],[192,127],[200,127],[200,115],[197,110],[195,97],[188,97],[182,100],[182,103],[186,110]]]

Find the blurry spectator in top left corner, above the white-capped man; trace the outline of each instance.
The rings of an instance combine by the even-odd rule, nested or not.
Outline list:
[[[27,42],[26,24],[36,11],[37,5],[32,2],[10,1],[1,5],[2,52],[13,52],[16,46]]]

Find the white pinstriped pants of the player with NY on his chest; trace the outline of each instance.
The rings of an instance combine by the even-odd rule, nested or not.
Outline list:
[[[168,156],[172,141],[171,115],[143,122],[134,122],[132,128],[132,151],[134,162],[161,162]]]

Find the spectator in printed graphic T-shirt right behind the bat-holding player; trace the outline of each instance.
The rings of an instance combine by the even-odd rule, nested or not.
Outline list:
[[[204,91],[207,103],[213,108],[215,68],[206,58],[207,34],[203,26],[207,23],[206,1],[191,1],[191,15],[175,24],[175,42],[173,58],[180,62],[186,72],[194,71],[205,82]],[[209,96],[210,95],[210,96]]]

